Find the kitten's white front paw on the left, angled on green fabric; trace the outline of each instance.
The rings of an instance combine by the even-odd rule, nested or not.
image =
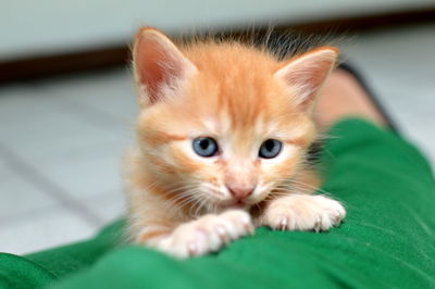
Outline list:
[[[178,226],[157,248],[177,257],[198,256],[217,251],[247,234],[253,234],[250,215],[241,210],[231,210]]]

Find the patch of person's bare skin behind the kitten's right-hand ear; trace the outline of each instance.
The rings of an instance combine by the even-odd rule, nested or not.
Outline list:
[[[348,116],[362,117],[378,126],[387,125],[358,80],[339,68],[330,75],[318,96],[314,115],[322,129]]]

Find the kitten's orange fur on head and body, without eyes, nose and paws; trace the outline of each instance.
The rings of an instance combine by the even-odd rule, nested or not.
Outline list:
[[[318,52],[330,58],[318,61],[319,70],[295,65],[296,73],[311,73],[307,81],[315,81],[315,91],[334,65],[335,48],[279,62],[265,49],[237,41],[176,48],[157,29],[137,34],[133,65],[141,112],[137,148],[124,162],[133,239],[153,243],[179,224],[237,205],[229,187],[256,188],[239,205],[249,210],[288,179],[313,178],[304,173],[304,154],[316,137],[309,109],[313,96],[296,101],[303,87],[287,84],[284,78],[298,75],[283,70]],[[196,155],[197,137],[215,139],[219,154]],[[277,158],[258,156],[266,139],[283,142]]]

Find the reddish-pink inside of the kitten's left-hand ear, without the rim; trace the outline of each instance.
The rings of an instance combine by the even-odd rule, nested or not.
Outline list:
[[[172,51],[156,39],[149,37],[139,39],[136,47],[135,66],[138,80],[146,88],[149,104],[159,100],[163,85],[171,86],[172,81],[182,76],[182,63]]]

